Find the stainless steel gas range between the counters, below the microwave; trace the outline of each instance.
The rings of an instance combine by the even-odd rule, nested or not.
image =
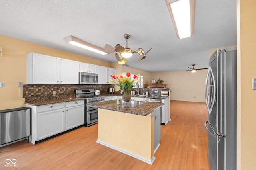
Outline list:
[[[96,96],[94,93],[94,89],[78,89],[75,90],[76,97],[85,98],[85,123],[86,127],[90,125],[94,125],[98,122],[98,109],[90,106],[86,106],[87,104],[102,102],[105,100],[105,96]]]

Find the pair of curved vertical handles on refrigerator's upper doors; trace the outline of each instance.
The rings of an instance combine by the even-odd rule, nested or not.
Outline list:
[[[211,78],[212,78],[212,84],[208,84],[208,79],[209,79],[209,75],[211,74]],[[210,106],[208,104],[208,97],[207,97],[207,88],[208,86],[212,86],[213,87],[213,94],[210,94],[210,97],[211,97],[211,103],[210,103]],[[206,106],[207,106],[207,110],[208,110],[208,113],[210,114],[211,111],[212,111],[212,107],[214,105],[214,102],[216,102],[215,100],[215,80],[214,80],[214,75],[213,75],[213,72],[212,72],[212,68],[211,66],[209,66],[208,68],[208,72],[207,72],[207,75],[206,75],[206,82],[205,82],[205,100],[206,100]]]

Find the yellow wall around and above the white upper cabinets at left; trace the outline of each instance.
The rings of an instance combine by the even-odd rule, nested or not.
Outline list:
[[[3,56],[0,57],[0,82],[5,87],[0,88],[0,110],[25,107],[24,99],[20,98],[18,82],[26,84],[26,54],[30,52],[81,61],[111,67],[111,63],[90,57],[69,53],[43,45],[30,43],[0,35],[0,47]]]

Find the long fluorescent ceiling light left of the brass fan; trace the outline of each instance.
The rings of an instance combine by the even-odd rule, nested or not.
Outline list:
[[[87,50],[90,50],[90,51],[94,51],[96,53],[100,53],[100,54],[108,54],[108,52],[106,52],[104,49],[96,46],[96,45],[93,45],[91,43],[87,43],[86,41],[83,41],[79,38],[76,38],[72,35],[64,38],[64,41],[66,43],[69,43],[69,44],[72,44],[72,45],[76,45],[78,47],[82,47],[84,49],[87,49]]]

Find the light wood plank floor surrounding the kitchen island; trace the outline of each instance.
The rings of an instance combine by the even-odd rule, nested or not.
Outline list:
[[[81,127],[33,145],[27,141],[0,147],[0,170],[6,159],[26,170],[210,170],[207,158],[205,103],[171,101],[171,119],[161,125],[153,165],[96,143],[97,124]],[[10,168],[10,167],[9,167]]]

